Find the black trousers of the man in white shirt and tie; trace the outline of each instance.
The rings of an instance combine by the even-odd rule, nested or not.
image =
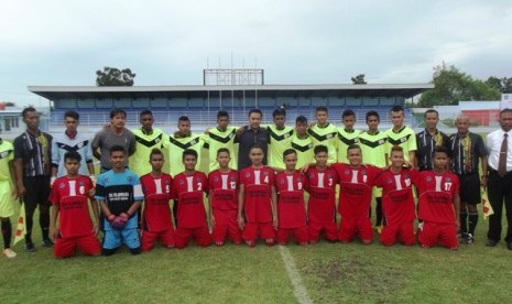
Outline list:
[[[498,171],[489,169],[489,180],[487,183],[487,193],[489,203],[491,203],[494,214],[489,217],[489,231],[487,238],[500,241],[501,239],[501,218],[503,205],[506,211],[506,236],[505,241],[512,242],[512,172],[500,177]]]

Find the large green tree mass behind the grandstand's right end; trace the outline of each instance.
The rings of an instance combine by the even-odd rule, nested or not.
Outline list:
[[[418,107],[455,106],[464,100],[498,100],[500,91],[489,84],[473,79],[454,65],[434,67],[434,88],[422,94]]]

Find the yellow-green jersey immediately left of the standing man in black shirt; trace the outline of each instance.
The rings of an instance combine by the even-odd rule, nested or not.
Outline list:
[[[237,133],[237,128],[228,127],[225,131],[219,128],[211,128],[206,134],[203,134],[203,141],[205,142],[205,148],[208,149],[208,172],[214,172],[219,169],[219,163],[217,162],[217,151],[220,148],[226,148],[229,150],[229,155],[231,161],[229,162],[229,167],[237,169],[237,154],[235,153],[235,135]]]

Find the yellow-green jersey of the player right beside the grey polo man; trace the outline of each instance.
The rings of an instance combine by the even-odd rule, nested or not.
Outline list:
[[[162,149],[168,141],[168,137],[160,129],[153,129],[151,132],[141,129],[132,131],[135,137],[135,153],[130,158],[130,170],[138,176],[151,172],[150,154],[155,148]]]

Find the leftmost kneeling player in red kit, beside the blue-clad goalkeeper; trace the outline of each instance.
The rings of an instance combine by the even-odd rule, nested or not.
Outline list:
[[[89,176],[78,174],[80,161],[78,152],[67,152],[64,155],[67,175],[57,178],[52,186],[50,236],[55,240],[56,258],[72,257],[77,248],[86,256],[101,253],[96,238],[98,225],[91,220],[92,217],[98,217],[98,205],[91,204],[91,215],[88,204],[88,199],[94,195],[94,184]]]

